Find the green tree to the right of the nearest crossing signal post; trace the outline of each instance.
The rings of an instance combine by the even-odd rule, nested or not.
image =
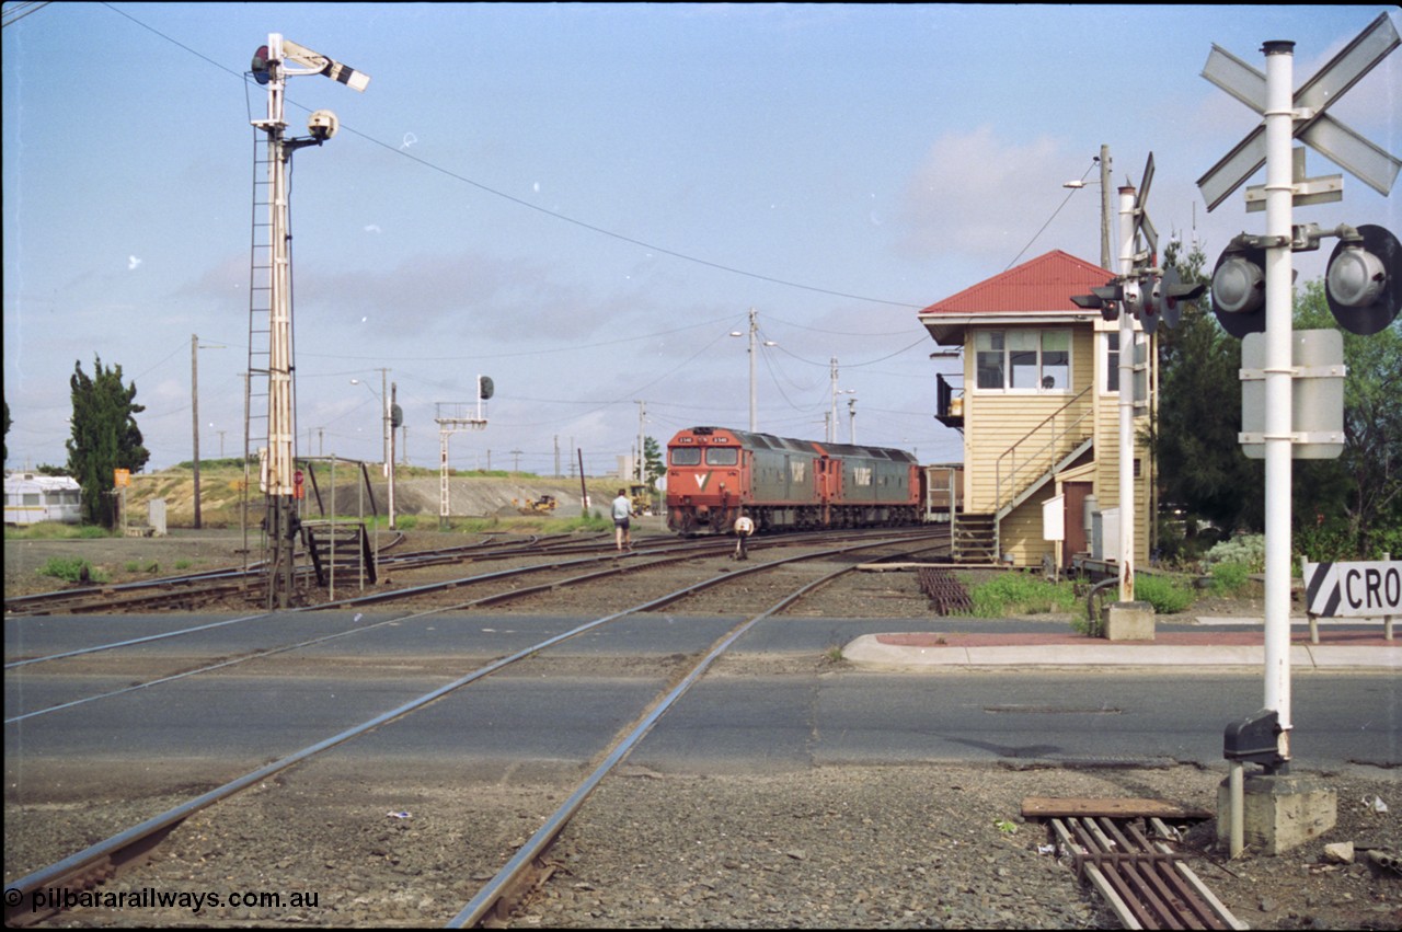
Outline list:
[[[1342,329],[1323,279],[1295,299],[1295,329]],[[1402,549],[1402,318],[1370,336],[1343,332],[1343,453],[1295,460],[1295,548],[1311,559]]]

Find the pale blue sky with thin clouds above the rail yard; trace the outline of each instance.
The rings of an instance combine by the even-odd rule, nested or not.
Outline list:
[[[960,457],[934,420],[917,311],[1050,249],[1099,259],[1098,178],[1137,184],[1161,241],[1209,262],[1262,231],[1196,179],[1259,118],[1200,76],[1213,43],[1259,70],[1295,42],[1295,84],[1387,6],[52,3],[3,29],[8,468],[62,464],[76,363],[121,364],[149,468],[243,451],[252,219],[247,81],[279,32],[370,76],[289,81],[299,454],[381,457],[381,370],[408,458],[439,462],[437,405],[491,376],[488,427],[454,467],[608,471],[749,422]],[[1396,14],[1394,13],[1394,22]],[[1402,53],[1330,111],[1402,156]],[[1309,154],[1311,175],[1338,172]],[[1252,184],[1263,181],[1263,171]],[[1402,233],[1399,196],[1352,175],[1297,223]],[[1318,277],[1332,240],[1298,255]],[[216,345],[223,348],[215,348]],[[639,405],[638,402],[645,402]],[[402,458],[402,455],[400,457]]]

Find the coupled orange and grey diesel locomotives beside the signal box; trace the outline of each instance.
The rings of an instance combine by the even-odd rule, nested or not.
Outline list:
[[[667,443],[667,527],[729,534],[742,514],[758,533],[916,524],[921,477],[904,450],[691,427]]]

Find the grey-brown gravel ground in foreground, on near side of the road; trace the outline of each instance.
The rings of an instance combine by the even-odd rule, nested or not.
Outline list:
[[[1143,796],[1203,807],[1218,774],[831,767],[659,774],[627,764],[547,852],[510,928],[1122,928],[1080,884],[1026,796]],[[1370,868],[1402,832],[1389,775],[1332,775],[1339,827],[1280,856],[1227,862],[1213,823],[1185,825],[1186,863],[1249,928],[1398,929],[1402,879]],[[443,926],[568,795],[566,781],[415,783],[393,764],[346,779],[308,767],[182,824],[156,858],[98,890],[268,891],[278,908],[64,912],[52,926]],[[329,792],[334,790],[334,792]],[[1354,841],[1353,865],[1323,845]],[[313,896],[293,907],[287,897]]]

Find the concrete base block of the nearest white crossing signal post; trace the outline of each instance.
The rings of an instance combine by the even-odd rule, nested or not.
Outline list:
[[[1318,838],[1339,818],[1339,795],[1315,776],[1248,774],[1242,786],[1246,847],[1279,855]],[[1231,831],[1230,781],[1217,786],[1217,841]]]

